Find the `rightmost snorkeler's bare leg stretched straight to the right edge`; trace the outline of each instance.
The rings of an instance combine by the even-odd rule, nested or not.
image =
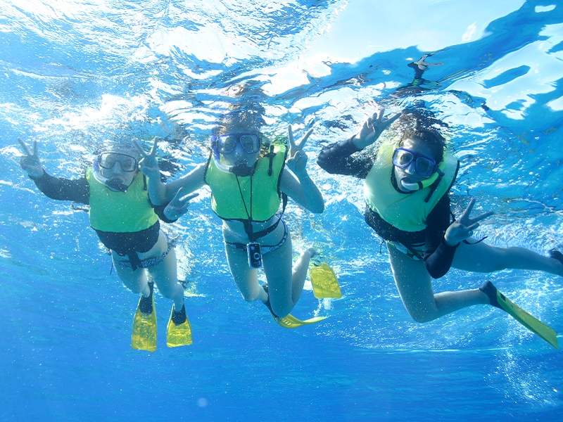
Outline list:
[[[493,272],[501,269],[535,269],[563,276],[563,264],[524,248],[495,248],[486,243],[460,243],[452,267],[465,271]]]

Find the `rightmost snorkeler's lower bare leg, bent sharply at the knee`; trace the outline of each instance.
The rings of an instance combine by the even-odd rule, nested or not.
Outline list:
[[[457,309],[489,303],[487,295],[479,289],[434,294],[424,262],[412,260],[392,246],[387,249],[400,298],[415,321],[428,322]]]

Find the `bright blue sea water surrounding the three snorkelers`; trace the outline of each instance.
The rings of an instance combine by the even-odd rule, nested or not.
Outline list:
[[[0,1],[0,418],[4,421],[561,420],[562,355],[492,307],[410,319],[385,248],[362,218],[361,181],[315,164],[376,103],[425,101],[462,159],[455,211],[494,210],[488,243],[546,253],[563,234],[563,6],[558,1]],[[412,89],[407,64],[442,65]],[[160,136],[174,179],[206,158],[229,87],[262,88],[273,133],[308,144],[323,215],[286,212],[296,251],[315,245],[343,298],[308,289],[284,330],[242,300],[203,192],[167,230],[194,345],[129,346],[137,297],[110,275],[87,215],[42,196],[18,165],[36,139],[51,174],[80,177],[110,136]],[[483,104],[486,104],[485,110]],[[436,291],[490,279],[563,331],[563,280],[452,270]],[[562,339],[559,338],[559,341]]]

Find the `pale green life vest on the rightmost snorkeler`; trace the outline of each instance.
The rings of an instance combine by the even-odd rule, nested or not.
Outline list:
[[[393,177],[393,152],[396,143],[386,141],[379,146],[372,169],[367,174],[364,195],[367,205],[386,222],[403,231],[426,229],[426,219],[439,200],[447,193],[455,181],[459,161],[447,150],[438,169],[442,177],[434,174],[424,188],[412,193],[397,191]],[[433,181],[434,179],[434,181]]]

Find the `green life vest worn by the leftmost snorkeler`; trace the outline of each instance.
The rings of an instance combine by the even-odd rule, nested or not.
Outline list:
[[[148,200],[144,176],[138,173],[127,192],[115,192],[86,172],[90,187],[90,226],[100,231],[132,233],[148,229],[158,216]]]

